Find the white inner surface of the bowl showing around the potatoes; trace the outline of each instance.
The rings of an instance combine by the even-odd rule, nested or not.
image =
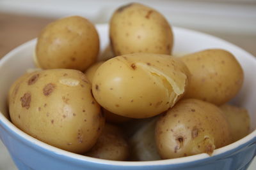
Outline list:
[[[100,49],[102,51],[109,43],[108,25],[97,25],[97,30],[100,36]],[[250,53],[245,52],[241,48],[207,34],[178,27],[173,27],[173,32],[175,39],[173,55],[196,52],[207,48],[222,48],[235,55],[244,70],[244,84],[236,98],[230,102],[248,109],[251,118],[251,131],[253,131],[256,127],[256,122],[252,121],[256,119],[256,91],[254,90],[254,87],[256,87],[256,79],[253,78],[253,74],[256,72],[256,59]],[[15,81],[20,75],[24,74],[27,69],[35,67],[35,64],[33,63],[35,44],[36,39],[28,41],[27,43],[24,43],[18,48],[12,50],[12,52],[8,53],[0,60],[0,114],[4,115],[4,117],[0,117],[0,122],[6,122],[6,124],[10,123],[7,107],[8,90],[13,81]],[[19,129],[15,131],[19,131]],[[253,133],[252,137],[255,137],[256,132],[253,131]],[[24,136],[24,134],[20,134],[20,136]],[[232,145],[232,147],[241,145],[241,143],[250,139],[252,138],[244,139],[244,141],[240,143],[237,142],[237,144]],[[216,153],[225,152],[227,149],[229,148],[220,148]],[[192,157],[200,159],[198,155]],[[183,160],[187,159],[184,158]]]

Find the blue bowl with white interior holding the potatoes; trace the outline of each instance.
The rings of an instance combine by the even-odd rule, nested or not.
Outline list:
[[[103,50],[109,43],[108,25],[97,25],[100,46]],[[233,53],[244,70],[243,88],[231,102],[248,109],[251,118],[251,133],[223,148],[179,159],[143,162],[95,159],[70,153],[20,131],[8,117],[7,96],[10,85],[27,69],[35,67],[33,51],[36,39],[15,48],[0,60],[0,138],[19,169],[246,169],[256,150],[256,59],[236,45],[201,32],[173,27],[173,54],[191,53],[207,48],[222,48]]]

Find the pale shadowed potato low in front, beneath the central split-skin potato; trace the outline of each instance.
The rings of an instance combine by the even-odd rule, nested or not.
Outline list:
[[[152,118],[152,120],[140,127],[129,139],[132,160],[147,161],[161,159],[157,153],[155,140],[157,118],[158,117]]]

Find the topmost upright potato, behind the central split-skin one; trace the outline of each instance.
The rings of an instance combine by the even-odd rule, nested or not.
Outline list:
[[[109,38],[115,55],[162,53],[173,48],[171,26],[161,13],[139,3],[118,8],[109,23]]]

